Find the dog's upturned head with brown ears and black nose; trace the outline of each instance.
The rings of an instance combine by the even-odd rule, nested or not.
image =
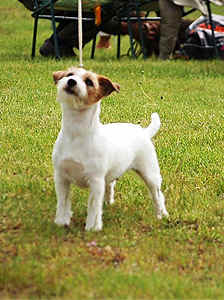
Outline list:
[[[59,102],[71,102],[80,110],[95,104],[112,92],[119,92],[120,86],[109,78],[83,68],[69,68],[53,73],[58,88]]]

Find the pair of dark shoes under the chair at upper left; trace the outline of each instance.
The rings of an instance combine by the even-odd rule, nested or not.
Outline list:
[[[72,57],[76,56],[75,52],[71,47],[59,46],[59,52],[61,57]],[[42,56],[55,57],[54,45],[50,39],[47,39],[43,45],[40,47],[40,54]]]

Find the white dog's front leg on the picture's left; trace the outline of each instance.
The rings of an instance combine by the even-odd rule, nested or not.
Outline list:
[[[70,182],[55,172],[55,191],[57,196],[57,212],[55,223],[59,226],[69,225],[72,216],[71,202],[69,200]]]

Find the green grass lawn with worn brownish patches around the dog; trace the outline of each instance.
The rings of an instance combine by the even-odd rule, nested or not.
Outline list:
[[[78,59],[32,61],[29,12],[15,0],[0,10],[0,299],[223,299],[223,62],[118,61],[115,40],[90,60],[85,48],[85,67],[121,85],[103,100],[102,122],[146,126],[159,113],[154,143],[170,218],[156,220],[130,172],[104,208],[102,232],[84,231],[88,191],[76,187],[71,226],[58,228],[51,152],[61,112],[52,72]],[[37,48],[49,29],[40,23]]]

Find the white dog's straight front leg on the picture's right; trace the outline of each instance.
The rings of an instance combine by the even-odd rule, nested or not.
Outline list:
[[[89,182],[90,195],[88,199],[88,213],[86,219],[86,230],[99,231],[103,227],[103,199],[105,193],[104,178],[94,178]]]

